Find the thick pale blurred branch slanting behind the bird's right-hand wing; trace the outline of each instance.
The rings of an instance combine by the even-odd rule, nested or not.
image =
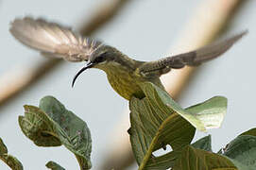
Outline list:
[[[225,34],[230,22],[235,19],[238,11],[247,0],[208,0],[203,1],[202,5],[196,10],[196,15],[190,20],[186,29],[181,33],[182,37],[177,43],[176,53],[187,52],[196,49],[209,42],[213,42],[218,36]],[[180,48],[181,47],[181,48]],[[173,55],[172,48],[172,55]],[[162,76],[162,83],[168,93],[175,99],[185,86],[188,80],[196,71],[196,67],[185,67],[181,70],[172,70],[167,75]],[[128,115],[128,112],[126,112]],[[126,116],[127,116],[126,115]],[[125,169],[134,162],[128,133],[129,127],[128,116],[121,121],[111,133],[111,146],[108,147],[107,153],[111,157],[101,165],[100,169]]]

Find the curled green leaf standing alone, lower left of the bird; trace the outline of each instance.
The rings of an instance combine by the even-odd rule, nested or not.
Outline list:
[[[72,151],[81,169],[90,169],[92,139],[89,128],[53,96],[45,96],[40,107],[25,106],[19,125],[27,138],[39,146],[63,144]]]

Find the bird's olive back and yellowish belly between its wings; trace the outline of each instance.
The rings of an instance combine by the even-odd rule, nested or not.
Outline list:
[[[104,51],[105,49],[102,50]],[[107,74],[111,87],[116,93],[119,93],[129,100],[132,95],[139,98],[144,96],[144,93],[140,88],[140,83],[142,82],[150,81],[159,87],[162,87],[159,76],[141,75],[138,68],[145,62],[129,59],[124,54],[109,46],[106,50],[109,53],[105,58],[110,60],[107,59],[101,64],[95,64],[94,68],[101,69]]]

